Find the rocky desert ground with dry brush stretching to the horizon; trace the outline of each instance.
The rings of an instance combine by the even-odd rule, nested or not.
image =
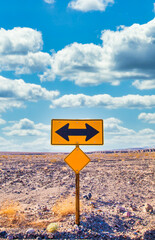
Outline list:
[[[1,152],[0,239],[155,239],[155,149],[86,154],[77,226],[67,153]]]

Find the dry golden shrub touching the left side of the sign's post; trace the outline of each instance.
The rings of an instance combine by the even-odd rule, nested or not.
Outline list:
[[[81,202],[80,202],[81,205]],[[58,216],[67,216],[75,214],[75,197],[68,196],[67,198],[60,199],[56,202],[52,211]]]

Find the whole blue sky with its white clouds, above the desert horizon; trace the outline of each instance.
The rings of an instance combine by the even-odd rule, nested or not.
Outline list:
[[[103,119],[104,145],[155,146],[155,2],[0,3],[0,151],[50,145],[51,119]]]

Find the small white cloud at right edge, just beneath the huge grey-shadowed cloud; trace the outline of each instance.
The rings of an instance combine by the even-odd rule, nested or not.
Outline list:
[[[135,80],[132,85],[139,90],[155,89],[155,80]]]

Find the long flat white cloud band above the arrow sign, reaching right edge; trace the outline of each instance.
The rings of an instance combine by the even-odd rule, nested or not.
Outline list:
[[[64,95],[52,101],[53,107],[105,107],[113,108],[153,108],[155,107],[155,95],[126,95],[112,97],[108,94],[88,96],[84,94]]]

